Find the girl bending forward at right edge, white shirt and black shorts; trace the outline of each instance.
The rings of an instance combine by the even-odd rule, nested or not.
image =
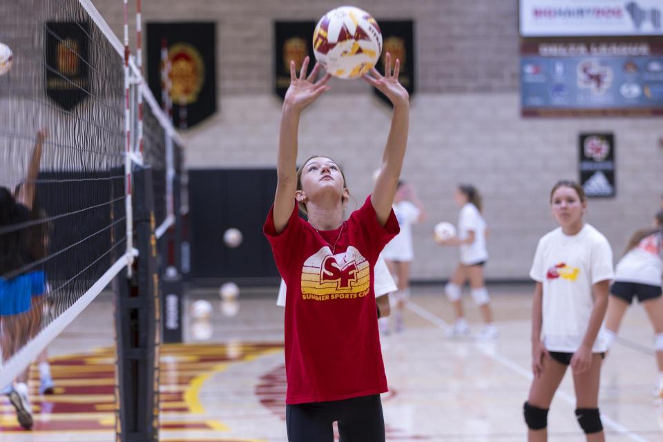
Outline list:
[[[655,394],[663,399],[663,298],[661,274],[663,273],[663,210],[655,216],[654,227],[642,229],[628,241],[626,253],[615,270],[615,282],[610,289],[606,335],[608,345],[613,343],[619,325],[633,298],[642,303],[647,312],[655,338],[658,383]]]

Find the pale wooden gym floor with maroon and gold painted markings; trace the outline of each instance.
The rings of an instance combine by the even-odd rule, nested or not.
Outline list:
[[[452,319],[439,286],[416,287],[403,333],[383,336],[390,392],[383,395],[388,441],[523,441],[521,407],[530,385],[529,285],[489,287],[500,337],[445,338]],[[215,291],[207,321],[185,318],[186,343],[162,349],[164,442],[286,441],[283,311],[276,287],[246,291],[227,316]],[[469,298],[469,297],[468,297]],[[473,331],[478,312],[466,310]],[[31,389],[35,429],[18,427],[0,400],[0,441],[111,442],[114,425],[113,317],[102,295],[50,346],[57,389]],[[629,309],[602,371],[600,406],[608,441],[663,441],[663,406],[653,399],[652,332],[642,307]],[[550,441],[584,441],[567,374],[549,416]]]

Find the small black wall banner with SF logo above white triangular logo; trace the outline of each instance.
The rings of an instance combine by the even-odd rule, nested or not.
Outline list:
[[[578,138],[580,185],[592,198],[611,198],[615,188],[615,135],[581,133]]]

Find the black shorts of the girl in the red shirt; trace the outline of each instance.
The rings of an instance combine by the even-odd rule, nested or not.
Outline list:
[[[385,442],[385,418],[379,394],[286,405],[289,442],[333,442],[338,421],[340,442]]]

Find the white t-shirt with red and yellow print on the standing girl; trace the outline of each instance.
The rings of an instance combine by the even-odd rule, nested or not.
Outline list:
[[[613,276],[610,244],[590,224],[573,236],[558,227],[539,240],[530,278],[544,285],[543,332],[548,351],[575,353],[594,307],[593,285]],[[602,327],[592,352],[607,348]]]

